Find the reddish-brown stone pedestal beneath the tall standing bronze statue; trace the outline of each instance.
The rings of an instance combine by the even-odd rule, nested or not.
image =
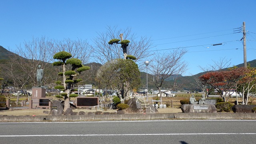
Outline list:
[[[45,88],[32,88],[32,106],[30,108],[39,108],[39,99],[46,97],[46,89]]]

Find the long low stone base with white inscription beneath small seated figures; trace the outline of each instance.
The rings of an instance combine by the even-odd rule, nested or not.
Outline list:
[[[217,112],[214,104],[183,104],[182,112]]]

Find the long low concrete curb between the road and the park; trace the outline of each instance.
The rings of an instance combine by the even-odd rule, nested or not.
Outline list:
[[[168,113],[108,114],[83,116],[0,116],[0,122],[91,121],[91,120],[155,120],[155,119],[256,119],[254,113]]]

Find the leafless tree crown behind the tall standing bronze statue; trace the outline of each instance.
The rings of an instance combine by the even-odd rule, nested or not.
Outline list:
[[[52,40],[42,37],[33,38],[30,42],[24,42],[23,45],[17,46],[16,54],[13,54],[9,61],[10,64],[15,64],[13,68],[16,68],[20,72],[25,72],[26,79],[36,86],[36,70],[38,65],[41,65],[43,69],[48,70],[51,65],[49,62],[53,60],[52,50],[53,50]],[[8,64],[8,65],[10,65]],[[11,67],[7,67],[10,70]],[[51,75],[49,75],[51,76]],[[13,73],[13,78],[15,73]],[[22,84],[21,84],[22,85]]]

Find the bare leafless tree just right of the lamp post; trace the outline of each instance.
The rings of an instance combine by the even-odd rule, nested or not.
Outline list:
[[[164,80],[174,74],[182,75],[186,71],[187,64],[182,60],[182,57],[186,52],[186,49],[176,49],[168,56],[156,54],[151,60],[149,71],[153,76],[155,76],[153,84],[160,93],[160,100],[162,100],[161,87]],[[162,102],[160,103],[162,104]]]

